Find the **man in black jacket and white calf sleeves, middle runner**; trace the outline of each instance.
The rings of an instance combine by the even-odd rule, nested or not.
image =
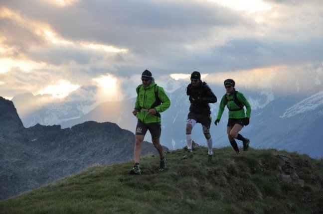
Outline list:
[[[208,147],[208,161],[213,160],[212,138],[210,135],[211,111],[209,103],[216,103],[216,96],[205,82],[201,81],[201,74],[194,71],[191,74],[191,83],[187,86],[186,94],[189,96],[190,107],[186,121],[187,153],[184,159],[193,158],[192,154],[192,129],[196,123],[201,123],[203,134]]]

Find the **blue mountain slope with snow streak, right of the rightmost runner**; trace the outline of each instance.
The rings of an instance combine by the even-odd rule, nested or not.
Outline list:
[[[254,111],[246,135],[255,147],[279,148],[323,157],[323,85],[285,96]]]

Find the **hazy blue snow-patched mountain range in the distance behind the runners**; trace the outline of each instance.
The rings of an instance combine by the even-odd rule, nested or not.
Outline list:
[[[213,124],[221,97],[224,94],[222,85],[217,83],[219,77],[208,75],[205,80],[218,98],[218,103],[210,104],[212,111],[211,135],[214,147],[229,145],[226,134],[227,110],[223,113],[220,123]],[[259,148],[278,148],[309,154],[311,157],[323,157],[321,126],[323,116],[323,67],[306,72],[276,72],[260,74],[244,78],[244,85],[237,82],[237,90],[241,91],[252,106],[250,125],[241,134],[250,138],[251,146]],[[168,85],[173,81],[169,82]],[[186,86],[182,82],[176,85],[177,90],[167,93],[171,106],[162,113],[161,143],[171,149],[181,148],[185,142],[185,123],[189,108],[186,96]],[[169,87],[167,85],[167,87]],[[174,88],[174,87],[170,87]],[[135,90],[135,89],[134,89]],[[19,99],[14,98],[13,103]],[[84,101],[83,101],[84,102]],[[59,107],[40,107],[34,111],[33,118],[22,118],[23,124],[48,121],[49,124],[60,124],[63,128],[89,120],[97,122],[110,121],[120,127],[134,132],[137,119],[132,115],[135,99],[117,102],[105,102],[94,107],[87,113],[78,112],[77,103],[60,103]],[[88,103],[91,106],[93,103]],[[69,112],[71,109],[73,113]],[[57,115],[56,117],[53,115]],[[59,116],[61,115],[61,116]],[[66,117],[62,115],[68,115]],[[71,118],[74,117],[74,118]],[[61,119],[53,119],[61,118]],[[63,119],[66,118],[66,119]],[[69,118],[69,119],[67,119]],[[51,121],[51,122],[50,122]],[[43,124],[43,123],[41,123]],[[196,124],[192,131],[193,140],[200,145],[206,145],[200,124]],[[146,137],[150,140],[150,135]]]

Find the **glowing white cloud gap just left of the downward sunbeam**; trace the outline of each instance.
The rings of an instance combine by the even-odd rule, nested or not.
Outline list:
[[[54,98],[65,98],[71,92],[78,89],[80,86],[73,85],[67,80],[59,80],[56,85],[49,85],[43,90],[39,90],[38,93],[41,95],[51,94]]]

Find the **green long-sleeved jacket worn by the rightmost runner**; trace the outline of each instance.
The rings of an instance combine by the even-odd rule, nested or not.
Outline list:
[[[217,114],[216,119],[221,119],[222,113],[224,111],[224,107],[225,107],[225,97],[227,97],[227,107],[229,109],[236,109],[239,108],[237,106],[236,103],[234,103],[233,101],[233,97],[234,97],[234,93],[231,93],[230,95],[223,95],[221,102],[220,102],[220,106],[219,106],[219,111]],[[229,118],[234,118],[234,119],[241,119],[241,118],[245,118],[248,117],[250,118],[251,115],[251,107],[250,104],[248,103],[247,99],[244,97],[244,95],[241,92],[237,92],[237,98],[240,101],[241,104],[243,104],[246,107],[246,113],[244,108],[242,108],[241,110],[237,110],[237,111],[230,111],[229,110]]]

